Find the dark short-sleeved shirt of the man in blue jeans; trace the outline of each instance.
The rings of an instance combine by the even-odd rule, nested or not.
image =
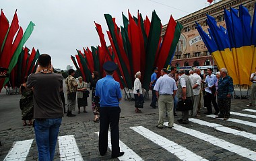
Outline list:
[[[34,118],[56,119],[63,117],[60,90],[63,77],[57,73],[35,73],[28,77],[28,88],[34,89]]]

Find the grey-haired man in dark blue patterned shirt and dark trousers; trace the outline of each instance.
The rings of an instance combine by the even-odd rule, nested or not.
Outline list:
[[[220,69],[220,77],[218,81],[218,106],[220,108],[220,114],[218,117],[223,117],[224,120],[227,120],[230,116],[230,104],[231,96],[234,92],[233,79],[228,75],[226,68]],[[218,118],[217,117],[217,118]]]

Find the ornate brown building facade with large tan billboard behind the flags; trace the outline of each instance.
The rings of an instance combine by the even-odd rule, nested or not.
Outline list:
[[[212,55],[207,50],[201,36],[195,28],[195,22],[199,23],[203,30],[207,31],[209,27],[206,22],[206,14],[208,14],[216,19],[218,25],[226,28],[224,9],[230,10],[230,7],[238,9],[239,5],[242,4],[247,7],[253,18],[255,3],[256,0],[222,0],[177,20],[183,25],[183,30],[171,65],[187,67],[187,69],[189,69],[189,67],[205,69],[207,67],[216,66]],[[162,35],[164,35],[166,27],[167,25],[163,26]]]

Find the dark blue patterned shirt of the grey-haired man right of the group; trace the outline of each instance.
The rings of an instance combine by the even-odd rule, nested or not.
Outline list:
[[[221,77],[218,82],[218,98],[227,98],[226,95],[234,92],[233,79],[229,75]]]

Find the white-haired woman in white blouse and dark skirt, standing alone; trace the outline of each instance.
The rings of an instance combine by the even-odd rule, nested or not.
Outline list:
[[[141,82],[139,78],[141,77],[141,72],[138,71],[135,74],[135,80],[134,80],[134,86],[133,86],[133,94],[134,94],[134,100],[135,100],[135,112],[141,112],[139,108],[143,108],[143,94],[142,94],[142,88],[141,88]]]

